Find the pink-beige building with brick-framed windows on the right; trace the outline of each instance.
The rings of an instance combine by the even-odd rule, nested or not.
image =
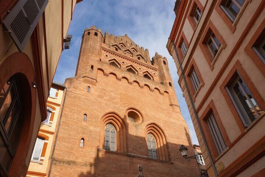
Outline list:
[[[175,3],[167,49],[209,176],[265,174],[265,1]]]

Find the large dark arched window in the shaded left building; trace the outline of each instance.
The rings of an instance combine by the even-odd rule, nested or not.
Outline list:
[[[19,80],[12,76],[0,92],[0,142],[1,152],[4,153],[4,158],[0,158],[0,169],[5,169],[7,173],[15,156],[22,128],[20,88]]]

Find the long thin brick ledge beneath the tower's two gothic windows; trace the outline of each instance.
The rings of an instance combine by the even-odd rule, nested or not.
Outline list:
[[[100,149],[98,148],[98,152],[106,153],[106,154],[113,154],[113,155],[119,155],[119,156],[124,156],[124,157],[130,157],[130,158],[136,158],[136,159],[143,159],[143,160],[148,160],[152,162],[159,162],[159,163],[164,163],[164,164],[173,164],[172,161],[165,161],[165,160],[159,160],[159,159],[151,159],[146,156],[142,155],[136,155],[136,154],[125,154],[125,153],[120,153],[120,152],[114,152],[114,151],[108,151],[105,149]]]

